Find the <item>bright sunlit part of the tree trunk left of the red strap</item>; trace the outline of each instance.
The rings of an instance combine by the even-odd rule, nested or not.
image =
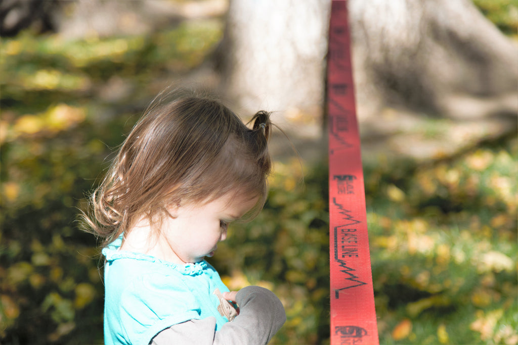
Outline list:
[[[231,0],[217,66],[243,113],[266,109],[290,122],[318,121],[329,10],[328,0]]]

